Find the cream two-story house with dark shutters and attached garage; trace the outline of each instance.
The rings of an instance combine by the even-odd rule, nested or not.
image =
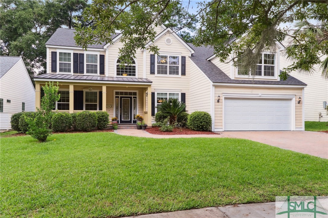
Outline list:
[[[163,100],[177,98],[188,113],[206,111],[212,130],[304,130],[303,98],[306,84],[289,77],[280,81],[279,52],[264,52],[255,79],[238,75],[232,64],[220,63],[213,49],[185,43],[165,26],[156,27],[154,42],[160,55],[137,50],[133,64],[119,67],[120,34],[113,44],[77,47],[73,29],[59,28],[46,43],[47,74],[34,77],[36,106],[40,86],[59,82],[56,109],[66,112],[103,110],[119,123],[135,123],[135,115],[154,121]],[[218,101],[218,96],[220,100]]]

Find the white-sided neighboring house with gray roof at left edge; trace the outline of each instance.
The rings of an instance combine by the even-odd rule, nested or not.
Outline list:
[[[0,130],[8,130],[11,115],[35,111],[35,89],[21,57],[0,56]]]

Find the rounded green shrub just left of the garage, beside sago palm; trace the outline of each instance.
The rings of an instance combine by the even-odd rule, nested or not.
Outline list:
[[[189,115],[188,127],[196,131],[210,131],[212,126],[211,115],[204,111],[195,111]]]

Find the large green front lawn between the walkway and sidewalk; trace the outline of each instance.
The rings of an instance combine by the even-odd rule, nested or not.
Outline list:
[[[328,160],[235,138],[1,139],[8,217],[119,217],[328,195]]]

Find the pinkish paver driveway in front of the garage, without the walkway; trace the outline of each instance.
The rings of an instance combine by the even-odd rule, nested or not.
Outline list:
[[[328,134],[309,131],[228,131],[221,136],[245,138],[279,148],[328,158]]]

